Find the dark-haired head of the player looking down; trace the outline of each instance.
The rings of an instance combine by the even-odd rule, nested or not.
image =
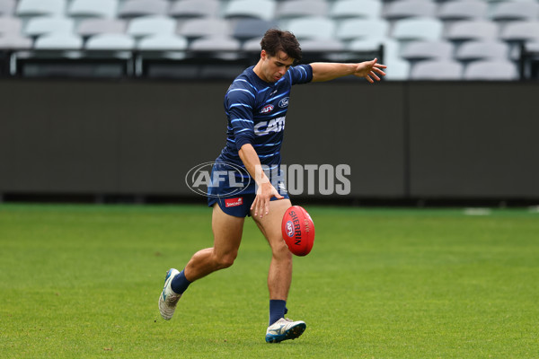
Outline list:
[[[296,36],[288,31],[270,29],[261,40],[259,62],[262,80],[277,82],[287,73],[288,67],[301,59],[301,48]]]

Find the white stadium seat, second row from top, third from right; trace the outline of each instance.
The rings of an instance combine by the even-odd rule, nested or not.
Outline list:
[[[397,20],[393,26],[392,37],[401,41],[419,39],[440,39],[443,25],[437,19],[411,18]]]

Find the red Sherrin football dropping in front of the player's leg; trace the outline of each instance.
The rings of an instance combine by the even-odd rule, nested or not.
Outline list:
[[[313,249],[314,223],[301,206],[291,206],[283,215],[281,224],[283,239],[296,256],[306,256]]]

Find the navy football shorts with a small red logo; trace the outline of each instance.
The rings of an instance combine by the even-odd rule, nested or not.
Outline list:
[[[289,199],[287,189],[281,181],[270,179],[279,195]],[[208,187],[208,206],[218,204],[226,215],[245,217],[250,215],[252,202],[256,197],[256,186],[252,177],[245,171],[234,171],[226,163],[216,163],[212,168],[211,185]],[[282,183],[282,185],[280,184]],[[272,197],[272,201],[278,200]]]

